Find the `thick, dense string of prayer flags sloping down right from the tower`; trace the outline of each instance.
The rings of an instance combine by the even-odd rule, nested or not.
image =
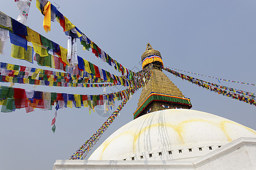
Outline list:
[[[226,97],[231,97],[232,99],[237,99],[239,101],[244,101],[245,103],[248,103],[248,104],[251,104],[251,105],[255,105],[256,106],[256,103],[255,103],[255,96],[254,99],[250,96],[244,96],[244,95],[240,95],[240,94],[236,94],[234,92],[228,92],[226,90],[222,90],[218,87],[220,87],[220,85],[218,84],[214,84],[214,83],[211,83],[211,84],[214,84],[214,86],[208,84],[208,83],[204,83],[203,80],[200,80],[200,79],[196,79],[196,78],[193,78],[191,76],[188,76],[188,75],[184,75],[184,74],[180,74],[180,73],[177,73],[176,71],[174,70],[171,70],[171,69],[168,69],[166,67],[162,67],[163,70],[166,70],[168,71],[169,73],[171,74],[174,74],[175,76],[178,76],[179,78],[182,78],[183,80],[188,80],[189,82],[193,83],[193,84],[197,84],[199,85],[200,87],[203,87],[203,88],[207,88],[209,89],[210,91],[213,91],[213,92],[217,92],[218,94],[222,94]],[[231,88],[228,88],[228,90],[231,89]]]

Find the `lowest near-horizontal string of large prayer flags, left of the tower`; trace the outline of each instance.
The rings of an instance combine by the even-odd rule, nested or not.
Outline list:
[[[0,105],[3,105],[3,112],[14,112],[15,109],[26,108],[26,112],[34,111],[35,108],[51,109],[55,103],[63,103],[60,108],[67,107],[88,107],[94,109],[97,105],[103,105],[101,100],[106,100],[107,105],[114,103],[116,100],[126,99],[133,95],[135,88],[102,95],[74,95],[55,92],[42,92],[31,90],[29,95],[24,94],[24,89],[13,87],[0,87]],[[68,97],[67,97],[68,96]]]

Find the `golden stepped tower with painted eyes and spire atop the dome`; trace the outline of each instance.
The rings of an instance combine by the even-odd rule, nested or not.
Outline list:
[[[190,99],[185,97],[174,83],[162,72],[163,61],[158,50],[150,43],[141,56],[142,69],[152,63],[150,81],[143,87],[134,118],[163,109],[190,109]]]

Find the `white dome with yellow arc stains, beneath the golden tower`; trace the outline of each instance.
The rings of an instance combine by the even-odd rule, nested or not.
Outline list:
[[[89,160],[194,159],[240,137],[256,131],[205,112],[165,109],[119,128]]]

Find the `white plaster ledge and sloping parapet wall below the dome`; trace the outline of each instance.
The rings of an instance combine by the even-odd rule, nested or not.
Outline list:
[[[239,138],[194,161],[179,160],[56,160],[53,170],[78,169],[256,169],[256,138]]]

